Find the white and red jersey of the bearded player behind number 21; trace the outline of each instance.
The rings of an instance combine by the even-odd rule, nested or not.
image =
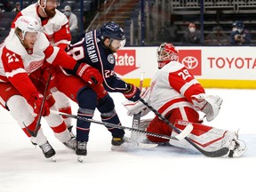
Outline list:
[[[63,46],[65,44],[65,49],[66,46],[71,42],[67,17],[56,9],[56,14],[54,17],[41,21],[37,13],[38,8],[39,5],[36,3],[29,5],[22,11],[18,12],[16,18],[12,21],[12,28],[15,28],[15,21],[20,16],[31,16],[38,20],[39,23],[41,23],[44,34],[47,36],[48,40],[53,46]]]

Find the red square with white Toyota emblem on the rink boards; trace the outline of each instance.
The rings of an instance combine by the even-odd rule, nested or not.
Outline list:
[[[202,76],[201,50],[179,50],[179,61],[194,76]]]

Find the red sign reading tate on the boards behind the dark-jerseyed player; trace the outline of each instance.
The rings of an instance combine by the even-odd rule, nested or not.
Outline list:
[[[124,76],[137,69],[135,50],[118,50],[115,53],[117,74]]]

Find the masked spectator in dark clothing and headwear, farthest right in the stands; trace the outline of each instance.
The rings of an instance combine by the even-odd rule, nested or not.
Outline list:
[[[237,30],[231,32],[230,35],[230,44],[234,45],[243,45],[243,44],[251,44],[251,34],[249,30],[244,29],[244,23],[241,20],[238,20],[233,28],[237,28]]]

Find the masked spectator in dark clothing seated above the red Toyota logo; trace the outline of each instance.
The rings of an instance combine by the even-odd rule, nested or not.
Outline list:
[[[189,23],[188,30],[182,39],[182,44],[201,44],[201,32],[196,30],[195,23]]]

